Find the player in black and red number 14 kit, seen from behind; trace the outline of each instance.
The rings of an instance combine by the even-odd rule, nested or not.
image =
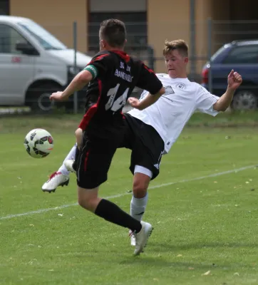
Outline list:
[[[83,130],[77,165],[78,204],[99,217],[127,227],[135,234],[135,255],[143,252],[153,227],[139,222],[113,202],[98,197],[98,187],[107,180],[115,150],[123,140],[122,109],[135,86],[149,91],[144,100],[129,99],[134,108],[143,110],[165,93],[162,83],[150,68],[123,49],[125,24],[109,19],[100,24],[100,52],[78,73],[63,92],[51,100],[66,100],[89,83],[86,114],[79,128]]]

